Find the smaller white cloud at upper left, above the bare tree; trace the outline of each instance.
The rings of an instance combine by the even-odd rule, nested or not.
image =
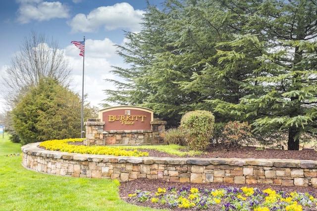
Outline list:
[[[19,0],[17,21],[21,24],[31,20],[48,21],[53,18],[68,18],[69,8],[59,1]]]

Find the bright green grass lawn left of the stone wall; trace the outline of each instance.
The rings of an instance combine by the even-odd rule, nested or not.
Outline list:
[[[22,167],[21,145],[0,137],[0,211],[155,211],[120,200],[108,179],[48,175]]]

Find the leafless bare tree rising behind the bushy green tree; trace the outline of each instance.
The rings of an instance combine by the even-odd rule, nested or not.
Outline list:
[[[70,72],[58,43],[53,38],[48,39],[44,34],[32,31],[29,37],[25,37],[20,51],[12,58],[11,65],[2,76],[7,107],[14,107],[19,98],[42,78],[54,78],[60,84],[68,85]]]

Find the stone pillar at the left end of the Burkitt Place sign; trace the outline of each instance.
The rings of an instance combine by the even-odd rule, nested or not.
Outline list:
[[[100,119],[87,119],[84,125],[86,126],[84,145],[103,145],[104,140],[101,135],[103,135],[102,132],[104,131],[105,122],[101,122]]]

